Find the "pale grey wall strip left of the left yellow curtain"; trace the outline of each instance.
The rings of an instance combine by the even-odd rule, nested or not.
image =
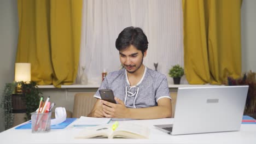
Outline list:
[[[0,98],[5,83],[14,80],[14,63],[18,43],[17,0],[0,0]],[[4,130],[3,111],[0,110],[0,132]]]

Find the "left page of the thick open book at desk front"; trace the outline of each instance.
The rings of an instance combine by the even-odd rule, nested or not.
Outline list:
[[[75,136],[75,139],[89,139],[89,138],[102,138],[108,137],[112,134],[110,124],[98,125],[96,127],[86,127],[84,130]]]

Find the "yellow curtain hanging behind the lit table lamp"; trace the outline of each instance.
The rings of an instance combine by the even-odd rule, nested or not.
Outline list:
[[[79,62],[82,0],[19,0],[16,62],[31,63],[38,85],[70,85]]]

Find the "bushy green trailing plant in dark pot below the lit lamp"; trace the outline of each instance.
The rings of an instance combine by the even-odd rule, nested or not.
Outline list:
[[[21,85],[21,93],[15,93],[17,85]],[[15,82],[7,83],[4,88],[3,97],[1,100],[1,107],[4,109],[4,120],[5,120],[5,129],[13,127],[13,117],[14,112],[13,108],[16,110],[17,107],[22,107],[26,109],[25,121],[31,119],[31,112],[36,111],[38,108],[40,96],[42,94],[37,88],[36,82]],[[15,102],[15,100],[18,100]],[[21,104],[21,106],[17,106]],[[24,106],[25,105],[25,106]]]

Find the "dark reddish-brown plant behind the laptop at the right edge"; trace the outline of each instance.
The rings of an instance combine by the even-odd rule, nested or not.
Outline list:
[[[246,98],[246,105],[244,115],[248,115],[256,118],[256,77],[255,72],[250,70],[247,74],[243,74],[243,76],[238,79],[233,79],[228,76],[228,80],[224,81],[225,85],[229,86],[237,86],[237,85],[248,85],[248,93]]]

